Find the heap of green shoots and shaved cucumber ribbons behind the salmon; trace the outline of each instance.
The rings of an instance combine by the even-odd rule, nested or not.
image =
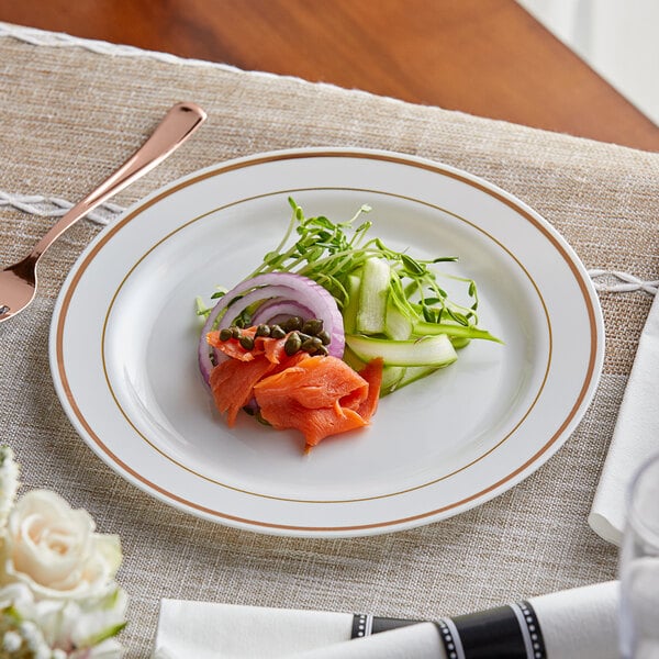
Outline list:
[[[324,215],[306,217],[293,199],[289,203],[293,213],[283,238],[247,279],[294,272],[330,291],[344,319],[344,359],[355,368],[375,353],[384,359],[382,395],[453,362],[455,350],[471,339],[501,343],[478,327],[472,279],[445,275],[466,284],[467,304],[451,301],[439,286],[433,266],[457,257],[414,258],[370,238],[372,222],[361,220],[368,205],[335,223]]]

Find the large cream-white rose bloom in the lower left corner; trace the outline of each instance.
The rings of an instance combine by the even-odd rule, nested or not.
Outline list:
[[[85,510],[55,492],[32,490],[9,515],[4,538],[5,582],[22,582],[37,599],[100,595],[121,563],[119,536],[94,533]]]

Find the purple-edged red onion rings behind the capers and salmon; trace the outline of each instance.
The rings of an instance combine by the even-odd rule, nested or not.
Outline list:
[[[206,343],[206,334],[213,328],[230,327],[243,311],[259,300],[263,300],[264,304],[271,305],[271,309],[276,304],[283,305],[287,303],[290,304],[289,309],[291,310],[302,308],[308,314],[300,314],[294,311],[290,315],[302,315],[304,320],[312,317],[322,320],[323,326],[331,337],[327,351],[339,359],[343,357],[345,348],[343,316],[336,300],[326,289],[312,279],[293,272],[257,275],[252,279],[242,281],[220,298],[204,323],[198,345],[198,360],[199,369],[206,384],[214,366]],[[260,308],[258,311],[260,311]],[[217,323],[217,319],[223,313],[224,315]],[[215,351],[217,362],[224,358],[225,356],[222,353]]]

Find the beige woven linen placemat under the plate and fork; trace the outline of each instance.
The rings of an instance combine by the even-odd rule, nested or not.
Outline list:
[[[659,278],[658,154],[2,24],[0,191],[77,201],[179,100],[204,107],[208,124],[118,204],[235,156],[383,148],[509,190],[556,226],[588,268]],[[1,192],[0,258],[8,264],[53,220],[3,202]],[[558,455],[521,485],[409,532],[277,538],[204,522],[143,494],[66,418],[48,372],[49,321],[64,277],[98,231],[85,221],[65,234],[43,260],[34,306],[0,327],[0,440],[14,447],[26,487],[57,490],[87,507],[102,532],[121,535],[129,656],[148,656],[165,596],[428,618],[615,578],[616,550],[587,517],[651,295],[601,293],[607,344],[595,400]]]

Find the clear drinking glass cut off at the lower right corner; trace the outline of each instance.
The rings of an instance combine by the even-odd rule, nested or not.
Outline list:
[[[629,489],[621,551],[621,652],[659,659],[659,455]]]

